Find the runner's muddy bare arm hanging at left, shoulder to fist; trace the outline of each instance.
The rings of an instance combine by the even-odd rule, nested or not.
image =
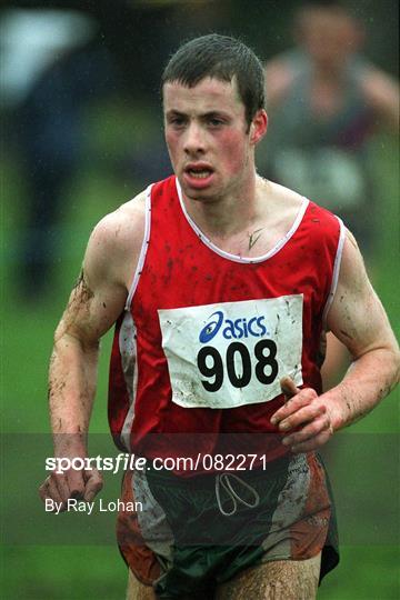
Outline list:
[[[49,372],[54,457],[87,456],[100,339],[126,303],[141,243],[140,217],[127,216],[119,209],[94,228],[80,278],[57,327]],[[52,498],[62,502],[72,496],[91,500],[101,484],[96,469],[90,473],[69,470],[64,477],[52,473],[41,486],[40,494],[43,500]]]

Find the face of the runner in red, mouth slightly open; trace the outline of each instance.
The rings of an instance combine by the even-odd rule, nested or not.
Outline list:
[[[166,140],[183,193],[221,198],[246,184],[253,171],[253,127],[236,83],[206,78],[188,88],[163,88]]]

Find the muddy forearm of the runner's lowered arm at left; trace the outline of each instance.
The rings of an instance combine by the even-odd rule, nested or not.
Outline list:
[[[49,372],[49,409],[57,454],[86,454],[97,381],[98,346],[62,336]]]

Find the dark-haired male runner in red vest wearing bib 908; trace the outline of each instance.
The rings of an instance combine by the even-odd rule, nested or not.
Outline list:
[[[310,600],[338,561],[314,451],[392,389],[396,340],[340,220],[256,172],[267,113],[252,51],[194,39],[171,58],[162,91],[174,176],[89,240],[56,332],[54,452],[86,456],[99,340],[117,323],[111,431],[148,458],[123,481],[123,499],[144,507],[118,522],[128,598]],[[326,330],[353,362],[322,393]],[[194,472],[156,469],[178,457],[198,458]],[[96,470],[69,471],[41,496],[91,500],[100,488]]]

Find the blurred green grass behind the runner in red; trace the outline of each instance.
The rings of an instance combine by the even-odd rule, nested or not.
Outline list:
[[[376,146],[376,170],[381,188],[376,287],[394,323],[399,293],[396,289],[399,232],[394,226],[399,222],[397,148],[384,138],[377,140]],[[49,431],[46,396],[52,331],[79,272],[88,236],[102,214],[132,197],[140,184],[137,189],[127,189],[126,184],[118,183],[113,176],[103,171],[82,171],[74,179],[66,193],[60,259],[54,266],[51,293],[38,302],[34,299],[22,300],[16,282],[19,268],[17,233],[24,223],[27,190],[18,162],[12,157],[3,160],[0,168],[6,257],[1,263],[1,429],[8,434],[2,443],[2,598],[117,600],[124,593],[126,568],[113,543],[112,531],[104,533],[103,539],[98,531],[90,529],[90,521],[82,521],[74,543],[71,536],[77,526],[73,526],[73,516],[69,514],[66,516],[69,520],[64,519],[62,526],[59,524],[60,541],[57,544],[46,541],[53,538],[54,520],[36,517],[41,510],[37,486],[44,477],[44,456],[34,450],[33,440],[37,438],[32,436]],[[109,348],[110,334],[103,341],[92,433],[108,431]],[[389,600],[400,597],[396,541],[399,528],[396,496],[399,483],[398,446],[392,436],[396,431],[398,398],[392,393],[372,414],[343,434],[340,450],[328,456],[337,489],[343,546],[341,564],[322,584],[321,600]],[[48,437],[40,439],[50,443]],[[111,493],[111,488],[104,493]],[[108,521],[98,527],[112,529]],[[42,543],[36,543],[37,539]],[[86,539],[94,541],[88,546]]]

